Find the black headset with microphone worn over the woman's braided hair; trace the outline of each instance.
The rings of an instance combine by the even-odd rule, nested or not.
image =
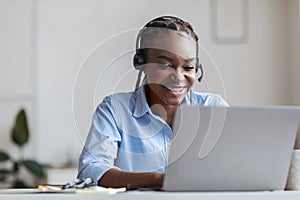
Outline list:
[[[173,28],[160,27],[160,26],[157,26],[157,25],[156,26],[153,25],[155,22],[158,22],[158,21],[172,22],[172,25],[175,26],[175,28],[173,29]],[[187,22],[183,21],[182,19],[174,17],[174,16],[162,16],[162,17],[158,17],[158,18],[155,18],[155,19],[151,20],[139,31],[139,33],[137,35],[137,39],[136,39],[136,45],[135,45],[136,52],[135,52],[135,55],[133,56],[134,68],[136,70],[139,70],[138,80],[137,80],[137,83],[136,83],[136,89],[139,87],[139,83],[140,83],[140,79],[141,79],[141,75],[142,75],[142,71],[143,71],[143,65],[146,64],[146,50],[140,48],[140,42],[141,42],[142,35],[143,35],[144,31],[146,29],[150,28],[150,27],[178,30],[179,29],[178,28],[179,23],[181,25],[188,24]],[[197,34],[194,32],[193,28],[190,25],[187,28],[191,31],[192,34],[195,35],[195,37],[198,38]],[[203,78],[203,68],[202,68],[202,65],[201,65],[200,60],[199,60],[198,51],[199,51],[199,44],[198,44],[198,40],[196,39],[196,54],[197,54],[196,55],[196,73],[200,70],[201,75],[198,78],[198,81],[201,82],[201,80]]]

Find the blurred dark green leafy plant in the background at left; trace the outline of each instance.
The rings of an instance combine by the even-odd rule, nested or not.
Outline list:
[[[29,129],[27,124],[27,117],[24,109],[21,109],[15,119],[13,128],[11,130],[11,139],[17,145],[19,152],[22,153],[22,148],[29,140]],[[45,165],[39,164],[32,159],[12,158],[4,150],[0,150],[0,183],[11,182],[13,188],[28,188],[31,187],[25,183],[20,176],[20,169],[26,169],[35,179],[44,179]]]

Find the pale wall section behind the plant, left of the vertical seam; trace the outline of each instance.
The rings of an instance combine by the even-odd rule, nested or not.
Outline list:
[[[17,149],[11,143],[10,131],[20,108],[28,111],[30,131],[36,133],[32,13],[30,0],[0,1],[0,149],[9,149],[14,156]],[[32,156],[34,146],[24,151],[24,155]]]

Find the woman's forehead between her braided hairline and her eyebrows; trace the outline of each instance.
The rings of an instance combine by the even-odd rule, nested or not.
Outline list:
[[[141,48],[171,52],[182,58],[193,58],[196,56],[196,41],[184,32],[168,31],[158,37],[152,37]]]

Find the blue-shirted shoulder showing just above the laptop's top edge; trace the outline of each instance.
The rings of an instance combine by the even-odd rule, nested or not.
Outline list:
[[[204,106],[228,106],[220,94],[193,92],[193,98]]]

